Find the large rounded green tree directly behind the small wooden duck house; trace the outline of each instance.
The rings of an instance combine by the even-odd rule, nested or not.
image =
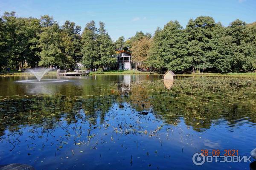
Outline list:
[[[163,30],[157,28],[148,64],[159,70],[184,71],[191,66],[187,55],[186,34],[178,21],[170,21]]]

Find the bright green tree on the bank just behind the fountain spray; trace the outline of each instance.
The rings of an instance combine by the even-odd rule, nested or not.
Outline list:
[[[38,34],[37,45],[41,49],[38,52],[41,57],[39,65],[47,67],[55,65],[61,68],[73,67],[75,65],[73,59],[75,47],[72,37],[67,31],[61,30],[58,23],[53,21],[51,17],[41,17],[41,24],[43,28],[42,32]]]

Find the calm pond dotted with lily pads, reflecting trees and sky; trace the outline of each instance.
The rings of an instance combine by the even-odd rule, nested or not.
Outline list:
[[[60,79],[45,76],[43,79]],[[256,79],[158,75],[0,77],[0,164],[37,170],[248,170],[192,156],[256,147]],[[203,151],[202,151],[203,150]],[[253,161],[253,159],[251,159]]]

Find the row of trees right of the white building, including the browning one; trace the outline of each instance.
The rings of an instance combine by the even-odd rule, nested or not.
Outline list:
[[[157,28],[154,37],[138,39],[130,49],[145,68],[218,73],[256,69],[256,22],[235,20],[224,27],[201,16],[189,20],[185,29],[177,20],[170,21]]]

